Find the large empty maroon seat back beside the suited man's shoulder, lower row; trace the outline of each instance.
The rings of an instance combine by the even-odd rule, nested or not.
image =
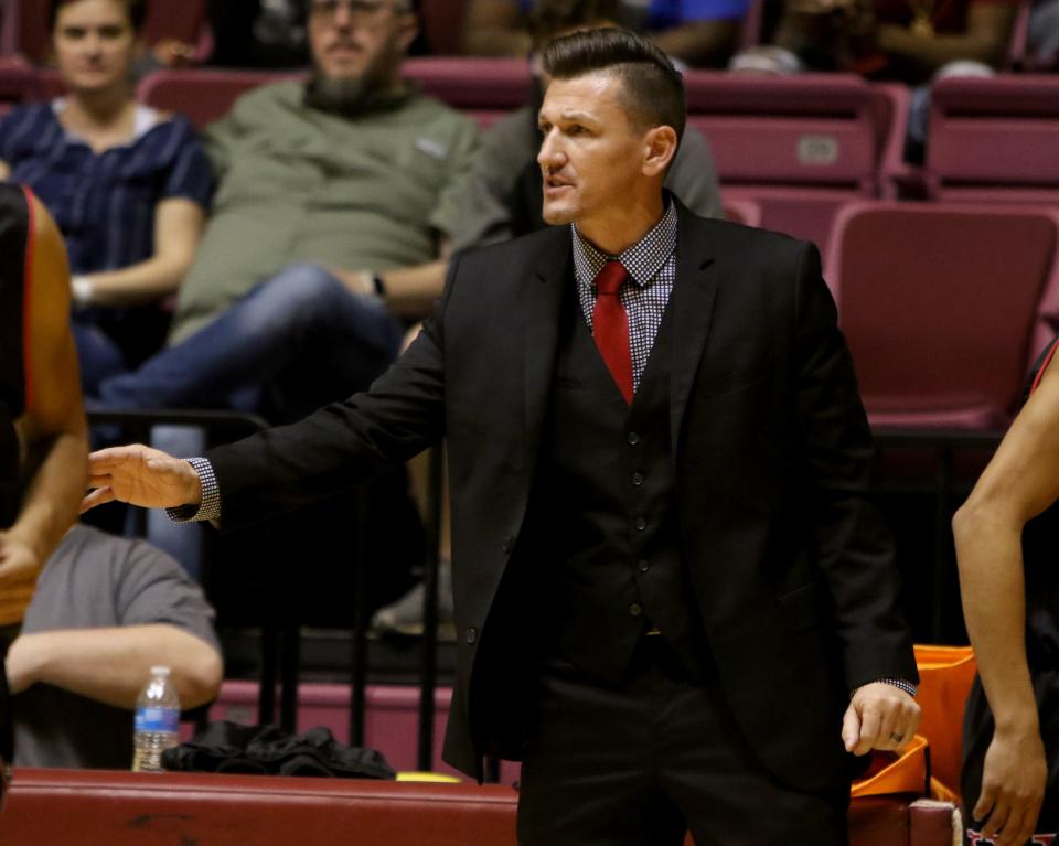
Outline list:
[[[854,203],[828,276],[874,425],[999,429],[1018,400],[1059,213]]]

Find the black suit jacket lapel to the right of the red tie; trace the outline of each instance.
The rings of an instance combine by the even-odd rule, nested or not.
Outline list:
[[[715,245],[708,237],[709,227],[702,225],[680,202],[677,212],[676,285],[668,306],[673,310],[670,435],[674,460],[680,448],[684,410],[709,334],[718,281],[710,268]]]

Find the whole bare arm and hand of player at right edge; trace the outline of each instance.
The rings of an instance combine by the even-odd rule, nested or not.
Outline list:
[[[1021,535],[1026,522],[1057,499],[1059,367],[1050,366],[952,522],[967,632],[996,726],[973,815],[998,846],[1029,838],[1044,799],[1047,765],[1026,661]]]

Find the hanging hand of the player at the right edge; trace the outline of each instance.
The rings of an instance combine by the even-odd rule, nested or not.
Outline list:
[[[985,753],[982,792],[973,816],[982,835],[996,846],[1019,846],[1037,827],[1045,799],[1048,764],[1037,727],[1026,731],[997,729]]]

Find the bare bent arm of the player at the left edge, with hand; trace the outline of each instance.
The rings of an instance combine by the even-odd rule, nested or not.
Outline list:
[[[0,532],[0,624],[21,619],[44,561],[77,517],[88,437],[69,331],[69,270],[51,215],[33,200],[26,410],[17,421],[29,480],[14,525]]]

